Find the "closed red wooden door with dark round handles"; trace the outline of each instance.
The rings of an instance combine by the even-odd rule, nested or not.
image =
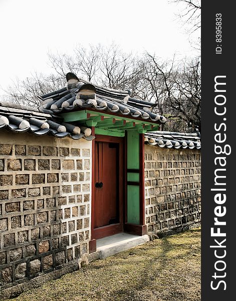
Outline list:
[[[93,238],[96,239],[123,231],[123,143],[112,140],[95,141]]]

